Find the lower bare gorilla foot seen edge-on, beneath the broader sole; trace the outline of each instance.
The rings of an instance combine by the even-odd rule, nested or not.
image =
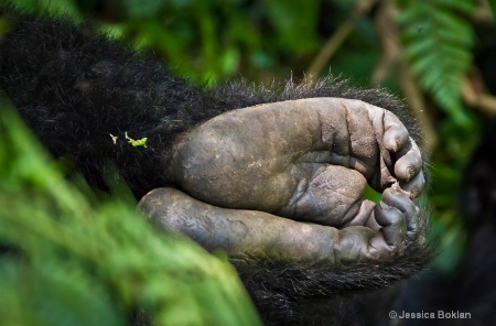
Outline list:
[[[396,207],[389,206],[396,205]],[[203,248],[237,260],[351,263],[391,259],[417,240],[419,208],[402,192],[387,188],[370,218],[380,227],[342,229],[299,222],[259,210],[208,205],[174,188],[157,188],[139,205],[159,228],[187,235]]]

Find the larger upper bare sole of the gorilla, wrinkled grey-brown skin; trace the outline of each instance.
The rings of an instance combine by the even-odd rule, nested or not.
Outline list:
[[[229,111],[176,145],[169,175],[191,196],[341,227],[366,183],[417,197],[421,153],[400,120],[358,100],[310,98]],[[392,159],[395,157],[395,159]]]

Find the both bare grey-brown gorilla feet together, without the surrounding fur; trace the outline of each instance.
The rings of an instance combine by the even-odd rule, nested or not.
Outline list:
[[[422,156],[401,121],[359,100],[310,98],[226,112],[184,135],[155,222],[231,258],[390,258],[418,237]],[[367,182],[384,192],[362,197]]]

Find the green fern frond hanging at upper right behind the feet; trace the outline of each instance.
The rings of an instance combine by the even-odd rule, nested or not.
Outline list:
[[[459,123],[466,122],[460,87],[471,62],[472,0],[398,1],[405,58],[420,86]]]

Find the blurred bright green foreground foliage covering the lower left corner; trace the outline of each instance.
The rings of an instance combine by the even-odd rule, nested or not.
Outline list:
[[[0,144],[0,325],[260,324],[226,258],[67,183],[4,101]]]

